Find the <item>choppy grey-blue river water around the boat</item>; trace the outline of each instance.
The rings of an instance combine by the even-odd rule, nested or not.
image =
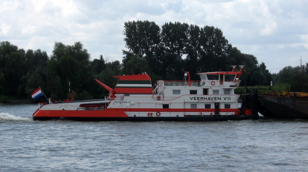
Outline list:
[[[0,104],[0,171],[307,171],[308,120],[32,121]]]

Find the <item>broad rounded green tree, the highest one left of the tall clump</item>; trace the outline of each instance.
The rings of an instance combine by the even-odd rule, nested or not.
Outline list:
[[[47,66],[47,78],[55,99],[66,99],[70,90],[87,90],[93,74],[89,70],[90,54],[81,42],[64,45],[55,42],[51,60]],[[70,86],[69,86],[70,85]],[[60,89],[60,90],[59,90]]]

